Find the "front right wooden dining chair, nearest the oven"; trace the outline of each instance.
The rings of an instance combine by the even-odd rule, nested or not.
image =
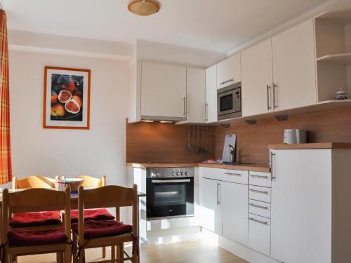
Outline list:
[[[84,190],[84,187],[79,187],[78,197],[78,208],[79,208],[79,221],[77,224],[72,225],[73,229],[73,243],[74,243],[74,255],[77,255],[74,262],[85,262],[86,248],[98,248],[103,246],[111,246],[111,259],[103,261],[107,262],[124,262],[131,261],[133,263],[138,262],[139,252],[139,241],[138,241],[138,188],[136,184],[133,188],[119,187],[119,186],[107,186],[100,187],[97,189]],[[126,231],[124,234],[114,234],[106,236],[88,236],[88,231],[84,228],[89,222],[84,223],[84,208],[115,208],[117,221],[119,221],[120,208],[132,206],[133,208],[133,224],[132,226],[124,225],[124,231],[130,227],[130,231]],[[111,220],[109,221],[111,222]],[[96,222],[101,224],[101,222]],[[111,229],[111,228],[110,228]],[[123,232],[123,231],[122,231]],[[124,250],[125,242],[133,242],[133,252],[129,256]],[[115,248],[119,247],[117,253]],[[117,254],[117,258],[116,258]],[[124,257],[126,255],[127,257]]]

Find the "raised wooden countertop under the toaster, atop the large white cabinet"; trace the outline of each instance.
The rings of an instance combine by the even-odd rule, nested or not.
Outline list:
[[[351,142],[270,144],[268,149],[351,149]]]

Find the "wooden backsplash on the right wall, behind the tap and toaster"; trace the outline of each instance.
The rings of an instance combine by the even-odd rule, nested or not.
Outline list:
[[[230,128],[216,127],[216,158],[222,159],[224,137],[237,134],[237,156],[241,162],[268,163],[268,144],[283,142],[284,129],[307,130],[308,142],[351,142],[351,108],[258,120],[255,125],[234,123]]]

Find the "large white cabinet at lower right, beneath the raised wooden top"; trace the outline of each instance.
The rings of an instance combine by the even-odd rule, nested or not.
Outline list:
[[[273,149],[271,257],[350,262],[351,149]]]

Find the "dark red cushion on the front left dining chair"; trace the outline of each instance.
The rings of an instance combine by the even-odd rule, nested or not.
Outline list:
[[[67,241],[64,229],[46,230],[13,230],[8,233],[8,244],[11,246],[51,245]]]

